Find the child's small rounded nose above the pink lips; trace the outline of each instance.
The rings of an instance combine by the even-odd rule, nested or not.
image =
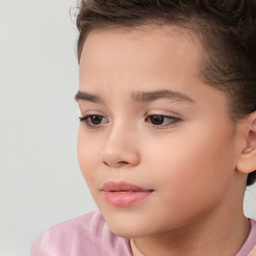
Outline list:
[[[110,167],[137,165],[140,161],[140,155],[135,136],[126,129],[113,129],[105,141],[100,160]]]

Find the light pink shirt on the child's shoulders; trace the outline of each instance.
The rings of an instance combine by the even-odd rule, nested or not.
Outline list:
[[[256,256],[256,222],[236,256]],[[53,225],[31,246],[31,256],[132,256],[129,239],[114,235],[99,210]]]

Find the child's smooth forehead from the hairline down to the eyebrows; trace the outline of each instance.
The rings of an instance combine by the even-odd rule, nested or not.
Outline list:
[[[79,90],[117,99],[170,89],[205,101],[213,89],[200,78],[201,52],[197,37],[177,26],[91,31],[81,53]]]

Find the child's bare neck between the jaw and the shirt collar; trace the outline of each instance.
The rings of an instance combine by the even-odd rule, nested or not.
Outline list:
[[[211,212],[178,229],[134,238],[133,255],[236,255],[248,237],[250,225],[242,207],[228,213]]]

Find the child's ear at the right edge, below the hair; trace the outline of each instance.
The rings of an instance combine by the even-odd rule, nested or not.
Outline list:
[[[243,173],[249,173],[256,170],[256,112],[250,113],[246,118],[244,132],[246,146],[239,155],[236,169]]]

